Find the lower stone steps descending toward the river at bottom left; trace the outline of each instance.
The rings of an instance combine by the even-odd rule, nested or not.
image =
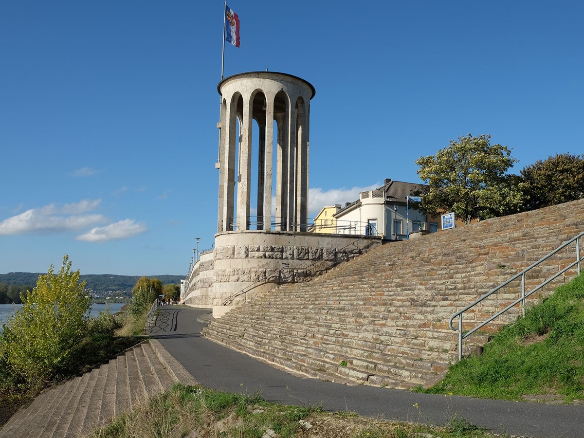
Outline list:
[[[192,376],[157,340],[43,392],[0,429],[1,438],[87,436],[138,402]]]

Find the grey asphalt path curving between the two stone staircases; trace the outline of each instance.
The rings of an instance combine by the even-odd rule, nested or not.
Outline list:
[[[443,424],[454,413],[493,432],[542,438],[584,436],[584,406],[544,405],[347,386],[300,378],[234,352],[200,335],[205,309],[165,306],[152,336],[204,387],[247,394],[289,405],[321,403],[327,411],[354,411],[389,420]],[[419,410],[413,407],[418,404]],[[421,413],[421,416],[420,416]]]

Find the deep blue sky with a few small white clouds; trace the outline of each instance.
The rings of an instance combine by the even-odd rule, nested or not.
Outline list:
[[[231,0],[225,76],[314,85],[310,211],[471,133],[584,152],[577,1]],[[0,273],[185,274],[217,227],[223,2],[0,2]]]

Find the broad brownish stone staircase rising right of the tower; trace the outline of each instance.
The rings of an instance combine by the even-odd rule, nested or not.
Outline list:
[[[584,231],[584,200],[391,242],[308,283],[258,294],[204,335],[277,367],[321,380],[394,388],[426,385],[457,360],[451,314]],[[533,287],[575,258],[565,250],[533,269]],[[543,295],[575,269],[546,286]],[[537,297],[536,297],[537,295]],[[464,329],[520,296],[509,284],[465,314]],[[542,295],[534,294],[533,300]],[[486,326],[514,321],[520,308]],[[484,344],[482,332],[465,354]]]

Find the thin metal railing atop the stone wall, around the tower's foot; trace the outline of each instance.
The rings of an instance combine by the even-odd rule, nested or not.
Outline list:
[[[230,218],[228,221],[229,230],[237,230],[237,217]],[[279,231],[286,228],[286,221],[282,222],[280,218],[272,217],[270,220],[270,227],[267,230]],[[245,221],[247,230],[264,230],[263,217],[248,216]],[[290,231],[309,231],[309,232],[328,232],[331,234],[353,234],[358,236],[377,236],[377,228],[367,222],[361,221],[347,221],[331,219],[307,219],[306,221],[298,221],[294,218],[290,220]]]

